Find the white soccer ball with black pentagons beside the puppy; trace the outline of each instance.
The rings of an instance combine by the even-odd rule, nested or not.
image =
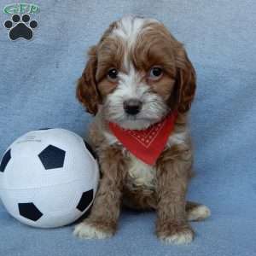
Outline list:
[[[20,222],[54,228],[73,223],[90,208],[98,180],[96,156],[77,134],[30,131],[3,154],[0,197]]]

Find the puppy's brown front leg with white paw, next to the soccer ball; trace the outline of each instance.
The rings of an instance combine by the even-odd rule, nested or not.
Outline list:
[[[102,179],[89,218],[75,227],[81,238],[108,238],[117,229],[125,160],[117,148],[108,148],[100,156]]]

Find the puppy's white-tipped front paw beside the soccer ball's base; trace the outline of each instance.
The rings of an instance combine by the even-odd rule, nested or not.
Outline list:
[[[83,239],[105,239],[113,236],[115,230],[116,228],[113,224],[86,219],[75,226],[73,235]]]

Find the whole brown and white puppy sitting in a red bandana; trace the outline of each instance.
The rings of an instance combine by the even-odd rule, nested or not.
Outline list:
[[[195,69],[183,44],[158,20],[127,16],[113,22],[89,51],[77,97],[95,115],[89,140],[102,172],[82,238],[113,236],[122,205],[154,209],[156,235],[189,243],[189,220],[210,215],[186,201],[193,150],[188,113]]]

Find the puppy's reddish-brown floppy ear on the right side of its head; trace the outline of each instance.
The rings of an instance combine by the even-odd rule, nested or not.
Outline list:
[[[177,110],[179,113],[186,113],[189,111],[195,96],[196,75],[183,47],[177,50],[176,67]]]

